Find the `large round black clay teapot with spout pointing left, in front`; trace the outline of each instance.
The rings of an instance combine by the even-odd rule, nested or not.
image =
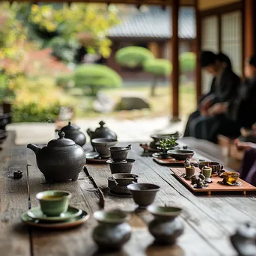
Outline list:
[[[37,157],[37,166],[46,178],[46,183],[55,181],[76,181],[85,166],[85,151],[64,132],[58,132],[59,138],[52,139],[45,147],[28,144]]]

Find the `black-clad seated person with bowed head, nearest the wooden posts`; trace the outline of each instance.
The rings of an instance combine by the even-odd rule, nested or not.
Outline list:
[[[238,85],[240,85],[240,78],[233,72],[230,59],[223,53],[216,55],[209,51],[202,52],[201,67],[214,77],[209,93],[201,98],[197,111],[189,116],[184,137],[200,138],[201,129],[195,129],[197,121],[207,115],[210,106],[225,102],[233,97],[237,93]]]

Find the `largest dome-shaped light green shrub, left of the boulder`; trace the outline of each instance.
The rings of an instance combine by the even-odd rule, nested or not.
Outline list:
[[[102,88],[121,87],[123,80],[115,70],[101,64],[85,64],[76,68],[73,73],[75,86],[89,89],[89,95],[95,96]]]

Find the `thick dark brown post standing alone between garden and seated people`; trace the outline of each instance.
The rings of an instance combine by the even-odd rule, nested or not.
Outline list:
[[[172,21],[172,37],[171,37],[171,61],[172,61],[172,121],[180,121],[179,119],[179,35],[178,35],[178,19],[179,19],[179,0],[173,0],[171,6]]]

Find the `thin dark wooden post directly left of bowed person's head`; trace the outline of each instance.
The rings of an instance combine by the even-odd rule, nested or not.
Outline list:
[[[202,79],[201,79],[201,16],[198,10],[198,0],[195,0],[195,55],[196,55],[196,68],[195,68],[195,86],[196,86],[196,100],[199,102],[202,94]]]

